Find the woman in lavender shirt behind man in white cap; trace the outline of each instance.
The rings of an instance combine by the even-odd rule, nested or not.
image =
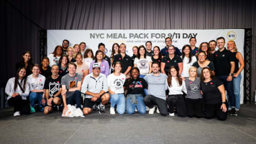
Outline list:
[[[105,74],[105,76],[108,77],[108,74],[110,74],[110,65],[108,64],[108,61],[103,59],[102,50],[96,51],[95,59],[90,63],[90,73],[92,73],[92,66],[94,63],[98,63],[98,65],[100,65],[100,73]]]

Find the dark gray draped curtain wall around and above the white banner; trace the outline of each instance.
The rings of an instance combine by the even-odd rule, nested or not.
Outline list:
[[[10,0],[46,30],[252,28],[252,90],[255,91],[256,2],[239,0],[27,1]],[[39,32],[6,1],[1,1],[2,86],[14,76],[25,50],[39,62]]]

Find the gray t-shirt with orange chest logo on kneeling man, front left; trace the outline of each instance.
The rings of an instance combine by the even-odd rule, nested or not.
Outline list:
[[[70,74],[66,74],[62,77],[62,85],[66,86],[66,89],[71,89],[78,86],[78,82],[81,81],[81,76],[76,73],[73,77],[70,77]],[[73,95],[74,92],[66,92],[66,98]]]

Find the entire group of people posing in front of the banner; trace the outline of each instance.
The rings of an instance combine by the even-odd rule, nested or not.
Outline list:
[[[107,103],[111,114],[148,110],[163,116],[225,120],[230,110],[237,116],[244,60],[235,42],[228,41],[226,49],[225,38],[220,37],[196,47],[193,37],[181,51],[171,38],[165,42],[161,50],[152,49],[151,41],[134,46],[132,57],[126,54],[126,44],[114,43],[108,57],[103,43],[94,56],[85,42],[70,47],[65,39],[41,65],[33,64],[26,51],[15,77],[6,84],[7,103],[14,106],[14,116],[48,114],[56,106],[65,114],[68,104],[86,115],[92,110],[105,113]]]

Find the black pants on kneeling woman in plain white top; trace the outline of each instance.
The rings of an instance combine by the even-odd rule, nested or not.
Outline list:
[[[183,95],[168,95],[167,103],[170,113],[174,113],[174,106],[176,106],[177,115],[186,117],[186,105]]]

